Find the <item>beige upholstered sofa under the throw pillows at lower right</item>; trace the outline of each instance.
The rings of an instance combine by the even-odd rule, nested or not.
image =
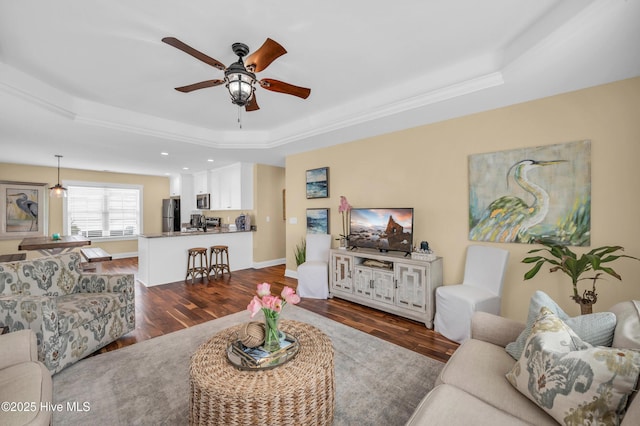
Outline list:
[[[623,302],[610,311],[617,319],[612,346],[640,349],[638,305]],[[456,350],[436,387],[421,401],[407,424],[557,425],[505,378],[516,363],[505,346],[515,341],[524,328],[524,324],[510,319],[475,313],[472,338]],[[640,424],[640,398],[631,398],[623,426]]]

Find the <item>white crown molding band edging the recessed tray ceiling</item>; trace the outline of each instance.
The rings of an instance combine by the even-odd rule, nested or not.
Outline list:
[[[2,66],[7,67],[4,64]],[[11,74],[12,78],[9,80],[13,83],[0,82],[0,89],[4,92],[79,124],[222,149],[279,147],[300,139],[378,120],[504,84],[502,74],[492,72],[411,97],[403,97],[401,100],[384,102],[382,97],[383,102],[378,100],[377,107],[368,107],[366,110],[362,109],[362,103],[356,103],[350,108],[353,112],[346,116],[344,112],[349,108],[337,106],[331,111],[288,123],[272,131],[214,131],[75,98],[17,70],[12,69]],[[21,86],[29,87],[31,90],[23,90]],[[386,98],[389,99],[389,96]]]

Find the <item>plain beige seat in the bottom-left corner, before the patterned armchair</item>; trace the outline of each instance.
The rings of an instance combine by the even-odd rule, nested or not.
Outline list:
[[[0,335],[0,425],[48,425],[51,422],[51,373],[38,361],[36,335],[21,330]]]

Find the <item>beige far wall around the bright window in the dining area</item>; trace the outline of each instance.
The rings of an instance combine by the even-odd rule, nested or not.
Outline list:
[[[52,162],[54,162],[52,157]],[[0,163],[0,180],[18,182],[47,183],[47,186],[56,184],[58,170],[55,167],[25,166],[22,164]],[[125,183],[143,186],[143,232],[156,233],[162,231],[162,218],[160,211],[162,199],[169,197],[169,179],[166,177],[93,172],[76,169],[60,169],[60,179],[88,181],[88,182],[108,182]],[[49,198],[49,230],[48,234],[62,233],[62,202],[61,198]],[[0,254],[18,253],[20,240],[0,240]],[[106,251],[118,257],[118,253],[137,253],[138,241],[125,240],[113,242],[98,242],[96,246],[104,248]],[[37,252],[29,252],[28,257],[41,256]]]

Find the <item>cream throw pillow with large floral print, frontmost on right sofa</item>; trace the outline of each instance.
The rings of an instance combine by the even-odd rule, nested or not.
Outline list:
[[[583,342],[540,310],[507,380],[561,424],[619,424],[640,374],[640,353]]]

